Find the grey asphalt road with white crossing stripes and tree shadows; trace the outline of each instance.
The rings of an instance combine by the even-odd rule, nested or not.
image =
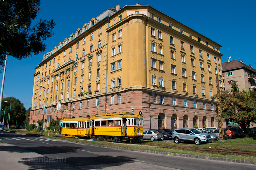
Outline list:
[[[256,169],[255,165],[210,161],[203,159],[183,158],[168,155],[151,154],[144,152],[131,152],[111,148],[96,147],[56,139],[45,139],[11,132],[0,132],[0,141],[19,146],[19,152],[35,152],[42,159],[38,161],[22,161],[31,169]],[[17,149],[18,150],[18,149]],[[16,152],[13,148],[0,146],[0,151]],[[45,159],[43,161],[43,159]],[[46,166],[47,159],[54,160],[55,167]],[[0,162],[2,164],[3,162]],[[56,167],[59,164],[60,166]]]

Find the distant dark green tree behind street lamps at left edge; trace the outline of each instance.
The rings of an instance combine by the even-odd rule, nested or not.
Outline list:
[[[24,104],[20,102],[19,99],[16,99],[15,97],[6,97],[3,99],[3,101],[9,101],[11,102],[11,116],[10,116],[10,125],[15,125],[17,121],[17,125],[21,126],[24,121],[26,120],[26,108],[24,107]],[[10,103],[3,102],[2,103],[2,109],[5,111],[5,116],[1,114],[1,120],[4,119],[4,124],[8,124],[8,116],[10,113]]]

